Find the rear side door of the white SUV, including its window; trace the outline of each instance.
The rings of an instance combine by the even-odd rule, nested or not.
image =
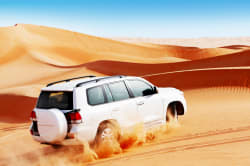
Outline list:
[[[109,83],[105,91],[113,100],[110,104],[112,118],[116,119],[121,127],[132,127],[143,122],[137,110],[136,101],[131,98],[124,81]]]

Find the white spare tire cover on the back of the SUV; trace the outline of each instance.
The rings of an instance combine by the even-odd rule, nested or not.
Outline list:
[[[57,143],[65,139],[68,125],[63,112],[58,109],[37,111],[38,132],[47,143]]]

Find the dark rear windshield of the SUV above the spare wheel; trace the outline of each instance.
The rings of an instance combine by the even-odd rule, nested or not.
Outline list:
[[[37,108],[58,108],[60,110],[72,110],[73,93],[42,91],[37,102]]]

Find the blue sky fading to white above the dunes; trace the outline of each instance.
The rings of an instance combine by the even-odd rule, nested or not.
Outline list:
[[[0,26],[15,23],[102,37],[250,36],[250,1],[0,0]]]

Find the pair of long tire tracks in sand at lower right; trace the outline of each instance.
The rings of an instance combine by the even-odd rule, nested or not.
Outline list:
[[[210,138],[212,136],[217,136],[217,135],[241,133],[241,132],[246,132],[249,130],[250,130],[250,126],[214,130],[214,131],[208,131],[208,132],[203,132],[203,133],[195,133],[191,135],[175,137],[171,140],[151,143],[147,146],[155,146],[155,145],[166,146],[166,145],[171,145],[171,143],[175,143],[175,142],[178,143],[181,141],[188,141],[188,140],[194,140],[194,139],[199,139],[199,138]],[[120,161],[120,160],[126,161],[126,160],[133,160],[133,159],[146,159],[146,158],[152,158],[153,156],[160,155],[160,154],[167,154],[167,153],[172,153],[172,152],[193,150],[193,149],[213,147],[213,146],[232,144],[232,143],[238,143],[238,142],[247,142],[247,141],[250,141],[250,135],[241,136],[241,137],[232,137],[232,138],[226,138],[226,139],[222,138],[222,139],[209,140],[209,141],[203,141],[203,142],[197,142],[197,143],[186,143],[184,145],[168,146],[168,147],[163,147],[163,148],[159,148],[156,150],[138,152],[135,154],[129,154],[127,156],[120,155],[120,156],[109,158],[109,159],[102,159],[93,163],[89,163],[88,165],[89,166],[98,165],[98,164],[109,163],[109,162]]]

